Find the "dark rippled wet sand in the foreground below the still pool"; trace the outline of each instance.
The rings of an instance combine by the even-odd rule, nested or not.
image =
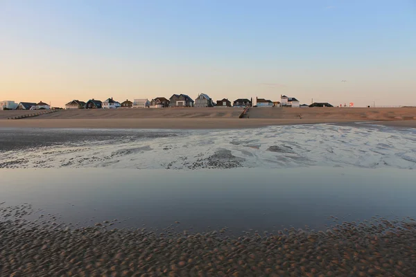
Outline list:
[[[415,276],[413,219],[343,222],[277,233],[110,229],[37,222],[30,204],[1,208],[1,276]],[[13,219],[13,217],[15,219]]]

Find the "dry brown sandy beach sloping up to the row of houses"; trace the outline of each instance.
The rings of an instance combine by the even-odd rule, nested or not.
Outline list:
[[[7,118],[28,111],[0,111],[0,127],[239,129],[354,122],[416,127],[416,108],[251,108],[248,118],[239,118],[242,111],[237,108],[63,110],[18,120]]]

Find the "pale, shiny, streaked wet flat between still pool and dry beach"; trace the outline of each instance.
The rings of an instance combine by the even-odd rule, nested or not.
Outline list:
[[[100,130],[48,132],[71,136]],[[0,152],[0,168],[416,168],[416,129],[319,124],[105,132],[114,136]],[[131,136],[137,133],[144,135]]]

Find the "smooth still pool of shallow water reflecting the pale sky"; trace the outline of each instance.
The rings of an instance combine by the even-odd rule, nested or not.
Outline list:
[[[416,171],[392,168],[229,170],[1,169],[1,207],[33,204],[79,226],[240,232],[416,216]],[[331,217],[338,218],[338,220]],[[335,220],[335,222],[334,222]]]

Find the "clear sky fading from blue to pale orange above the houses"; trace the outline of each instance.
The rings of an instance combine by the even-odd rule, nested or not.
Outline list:
[[[0,0],[0,100],[416,105],[415,34],[415,0]]]

